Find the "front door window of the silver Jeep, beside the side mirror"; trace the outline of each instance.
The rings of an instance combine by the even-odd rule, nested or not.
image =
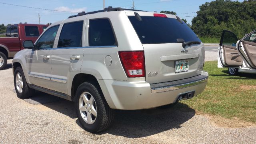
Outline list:
[[[36,47],[39,49],[53,48],[54,40],[59,26],[49,28],[38,40]]]

